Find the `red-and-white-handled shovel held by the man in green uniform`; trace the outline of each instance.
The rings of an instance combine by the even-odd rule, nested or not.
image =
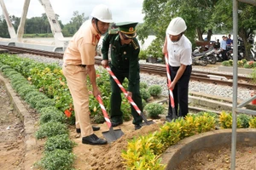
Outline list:
[[[139,116],[143,117],[143,121],[147,124],[147,125],[151,125],[154,122],[153,121],[148,121],[147,117],[143,114],[143,112],[137,107],[136,103],[133,101],[133,99],[131,99],[131,96],[128,96],[125,88],[122,86],[122,84],[119,82],[119,79],[117,77],[114,76],[113,71],[111,71],[111,69],[109,68],[109,66],[106,67],[108,73],[111,75],[111,77],[113,77],[113,80],[118,84],[119,88],[122,90],[122,92],[125,94],[125,97],[129,100],[130,104],[134,107],[134,109],[137,111],[137,113],[139,114]]]

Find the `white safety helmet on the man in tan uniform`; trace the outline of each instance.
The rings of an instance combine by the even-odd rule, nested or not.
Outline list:
[[[97,5],[93,8],[91,14],[92,17],[96,18],[97,20],[101,20],[102,22],[112,23],[112,13],[110,9],[103,4]]]

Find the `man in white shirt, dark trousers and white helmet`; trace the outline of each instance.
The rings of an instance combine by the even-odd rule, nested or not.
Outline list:
[[[186,116],[189,112],[189,79],[192,71],[192,44],[183,35],[187,26],[185,21],[180,18],[171,20],[166,29],[166,41],[163,53],[168,54],[168,63],[172,83],[168,87],[172,89],[175,102],[175,112],[178,116]],[[169,110],[166,121],[172,121],[172,106],[169,99]]]

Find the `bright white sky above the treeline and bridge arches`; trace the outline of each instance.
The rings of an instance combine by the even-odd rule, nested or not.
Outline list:
[[[25,0],[3,0],[9,15],[21,17]],[[60,16],[62,24],[67,24],[73,17],[74,11],[84,16],[90,16],[92,8],[97,4],[105,4],[112,11],[114,22],[135,21],[143,22],[143,0],[49,0],[55,14]],[[3,12],[2,12],[3,13]],[[39,0],[30,0],[27,18],[42,16],[44,7]]]

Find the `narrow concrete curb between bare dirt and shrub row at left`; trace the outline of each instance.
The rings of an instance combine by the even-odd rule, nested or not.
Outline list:
[[[31,160],[32,157],[30,156],[32,153],[31,151],[34,149],[34,147],[37,144],[37,140],[34,138],[35,133],[35,123],[34,119],[30,115],[29,111],[26,110],[25,105],[22,104],[19,96],[15,93],[14,89],[11,88],[11,85],[9,83],[9,79],[4,78],[3,75],[0,73],[0,81],[4,83],[5,88],[7,89],[7,93],[9,94],[9,98],[11,99],[11,102],[14,104],[15,111],[20,116],[20,120],[24,124],[24,144],[25,144],[25,158],[23,165],[25,169],[31,169],[32,163],[38,160]],[[26,159],[26,157],[30,157],[30,160]]]

